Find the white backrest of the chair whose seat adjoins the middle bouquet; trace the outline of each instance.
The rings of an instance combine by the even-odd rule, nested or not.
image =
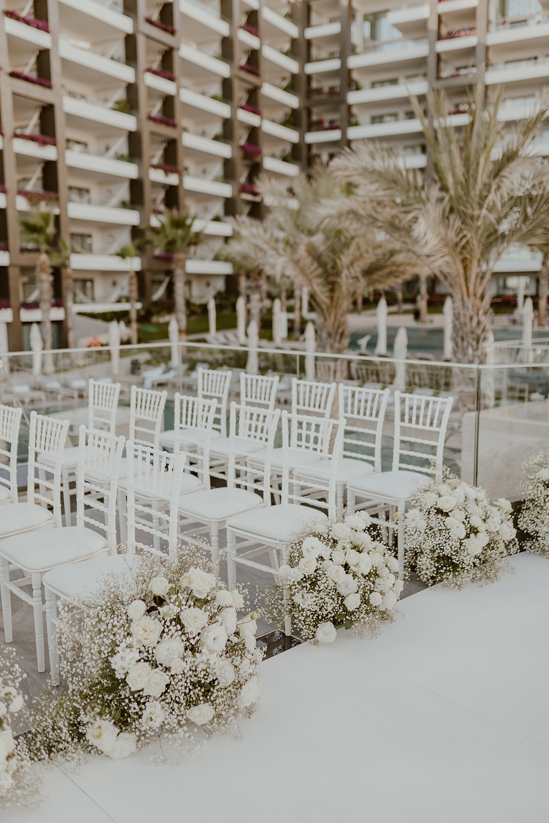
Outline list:
[[[319,496],[326,500],[314,499],[314,506],[324,509],[328,518],[337,516],[336,477],[337,465],[342,454],[343,434],[346,421],[326,420],[324,417],[305,415],[289,415],[284,411],[282,421],[282,479],[281,503],[295,503],[311,505],[313,498],[311,490],[316,490]],[[307,481],[307,491],[301,494],[300,485],[292,482],[291,470],[295,465],[295,450],[315,452],[319,458],[328,459],[330,471],[328,480]]]

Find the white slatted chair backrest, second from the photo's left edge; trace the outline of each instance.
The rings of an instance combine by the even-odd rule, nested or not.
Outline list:
[[[44,508],[53,505],[55,528],[62,526],[61,469],[69,425],[67,420],[30,412],[26,499],[28,503],[40,504]],[[45,462],[44,458],[49,461]]]

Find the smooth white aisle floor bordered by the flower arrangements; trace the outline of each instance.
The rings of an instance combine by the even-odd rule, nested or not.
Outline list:
[[[186,765],[94,758],[2,823],[547,823],[549,561],[407,597],[373,640],[263,663],[243,740]]]

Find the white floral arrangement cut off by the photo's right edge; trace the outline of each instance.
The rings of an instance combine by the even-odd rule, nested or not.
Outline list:
[[[539,452],[523,466],[523,508],[519,528],[529,539],[523,546],[534,555],[549,557],[549,452]]]

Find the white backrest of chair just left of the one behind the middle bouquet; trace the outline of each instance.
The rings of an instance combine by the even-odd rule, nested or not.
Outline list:
[[[237,422],[238,416],[238,422]],[[230,404],[229,420],[229,465],[227,487],[260,491],[263,505],[271,505],[271,461],[272,449],[277,436],[280,409],[258,409],[253,406]],[[258,467],[247,465],[243,468],[236,460],[239,453],[238,439],[254,440],[263,444],[263,461]],[[213,475],[216,477],[216,475]]]

